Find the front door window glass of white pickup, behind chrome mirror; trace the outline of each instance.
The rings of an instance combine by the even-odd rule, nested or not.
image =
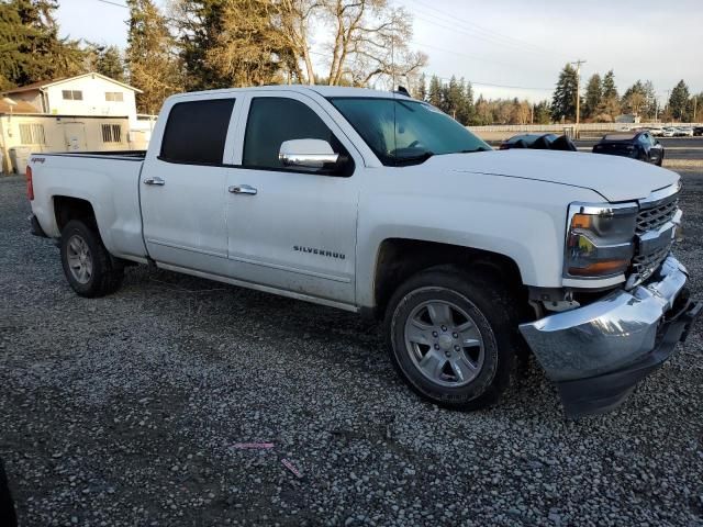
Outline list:
[[[324,139],[332,145],[334,152],[344,152],[327,125],[302,102],[277,97],[253,99],[246,123],[242,165],[283,168],[278,153],[281,144],[290,139]]]

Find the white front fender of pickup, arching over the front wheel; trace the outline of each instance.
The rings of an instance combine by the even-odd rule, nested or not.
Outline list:
[[[384,239],[436,242],[496,253],[512,259],[526,285],[561,287],[567,209],[573,201],[602,202],[598,193],[565,184],[501,176],[448,177],[454,192],[365,193],[359,206],[357,301],[375,305],[373,279]],[[447,182],[447,181],[443,181]],[[402,182],[398,182],[399,186]]]

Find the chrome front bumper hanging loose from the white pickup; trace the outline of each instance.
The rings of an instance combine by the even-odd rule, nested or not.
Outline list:
[[[702,304],[672,256],[647,283],[520,326],[569,417],[606,412],[684,340]]]

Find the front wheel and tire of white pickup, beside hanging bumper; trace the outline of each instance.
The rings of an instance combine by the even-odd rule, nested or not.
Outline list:
[[[490,406],[510,384],[522,343],[514,304],[490,276],[451,267],[422,271],[395,291],[386,311],[391,361],[412,390],[437,405]],[[447,310],[450,321],[443,324]]]

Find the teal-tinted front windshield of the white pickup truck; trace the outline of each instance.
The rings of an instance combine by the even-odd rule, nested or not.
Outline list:
[[[408,99],[331,98],[383,165],[492,148],[436,108]]]

